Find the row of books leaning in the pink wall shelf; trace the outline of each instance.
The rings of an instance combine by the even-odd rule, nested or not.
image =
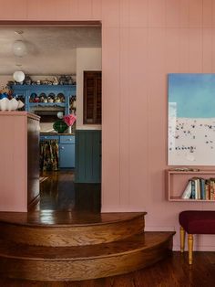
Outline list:
[[[215,178],[190,178],[181,198],[215,200]]]

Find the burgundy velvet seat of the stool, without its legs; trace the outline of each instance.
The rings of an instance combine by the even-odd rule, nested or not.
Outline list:
[[[215,210],[182,211],[179,224],[189,234],[215,234]]]

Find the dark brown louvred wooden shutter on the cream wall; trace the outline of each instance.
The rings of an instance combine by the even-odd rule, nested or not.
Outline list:
[[[84,71],[84,123],[101,123],[101,71]]]

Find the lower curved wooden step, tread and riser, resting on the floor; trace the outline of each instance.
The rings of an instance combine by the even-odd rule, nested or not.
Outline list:
[[[78,281],[135,271],[165,258],[174,232],[145,232],[93,246],[38,247],[0,242],[0,276]]]

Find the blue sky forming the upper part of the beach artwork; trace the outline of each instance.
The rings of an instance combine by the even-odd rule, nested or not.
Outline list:
[[[215,118],[215,74],[169,74],[169,115],[174,112],[178,118]]]

